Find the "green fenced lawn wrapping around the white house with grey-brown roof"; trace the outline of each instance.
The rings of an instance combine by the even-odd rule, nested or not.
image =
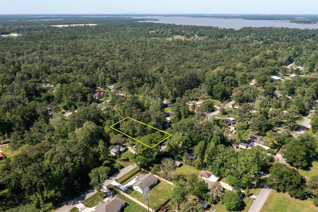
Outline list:
[[[156,210],[164,201],[169,199],[172,188],[173,186],[166,182],[159,182],[156,186],[151,188],[150,208]],[[142,193],[139,193],[132,187],[129,187],[128,190],[126,190],[126,193],[138,201],[147,204],[146,200],[142,199]]]

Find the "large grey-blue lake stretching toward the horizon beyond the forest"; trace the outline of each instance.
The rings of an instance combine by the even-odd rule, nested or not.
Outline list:
[[[243,20],[243,19],[218,19],[218,18],[193,18],[174,16],[141,16],[133,18],[155,18],[159,21],[141,21],[177,25],[218,26],[219,28],[233,28],[239,30],[242,27],[288,27],[298,29],[318,29],[318,25],[304,25],[296,23],[280,22],[275,20]]]

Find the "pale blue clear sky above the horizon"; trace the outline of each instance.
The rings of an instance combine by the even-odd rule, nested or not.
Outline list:
[[[318,14],[318,0],[0,0],[0,14]]]

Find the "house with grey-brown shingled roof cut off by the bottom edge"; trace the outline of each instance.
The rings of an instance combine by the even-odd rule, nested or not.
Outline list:
[[[114,196],[107,201],[100,201],[95,207],[95,212],[120,212],[125,207],[126,202],[121,198]]]

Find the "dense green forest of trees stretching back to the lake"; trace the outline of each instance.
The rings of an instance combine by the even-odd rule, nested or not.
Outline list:
[[[250,129],[266,136],[270,147],[287,144],[283,152],[305,152],[298,161],[290,160],[292,165],[309,166],[317,146],[314,135],[291,138],[289,133],[271,134],[270,129],[282,126],[294,131],[317,99],[318,30],[234,30],[138,23],[142,19],[131,18],[58,18],[63,20],[0,19],[0,34],[22,35],[0,37],[0,137],[1,143],[10,140],[12,151],[0,161],[0,210],[57,208],[87,190],[92,169],[106,166],[114,173],[122,168],[108,149],[122,145],[126,138],[109,126],[129,116],[166,129],[163,99],[174,103],[172,127],[166,129],[173,134],[167,140],[168,151],[138,145],[131,161],[149,168],[167,155],[179,159],[183,153],[194,152],[196,158],[190,165],[232,179],[235,186],[248,187],[262,168],[282,179],[269,180],[275,189],[306,198],[305,180],[298,172],[292,169],[287,173],[295,177],[288,181],[290,187],[284,187],[286,182],[279,172],[284,167],[271,168],[272,157],[261,148],[235,152],[225,136],[224,121],[205,120],[204,113],[213,107],[202,107],[195,113],[185,103],[198,97],[222,103],[235,100],[242,105],[237,109],[243,123],[238,126],[238,136],[243,139]],[[90,23],[98,25],[50,26]],[[174,39],[177,35],[184,39]],[[286,74],[286,66],[293,62],[303,67],[295,72],[304,77],[271,79],[272,75]],[[253,79],[259,87],[250,85]],[[101,110],[93,95],[97,87],[109,84],[115,84],[114,91],[107,92],[109,103]],[[276,91],[281,94],[277,98]],[[249,112],[250,102],[255,102],[255,114]],[[73,114],[66,117],[61,109]],[[317,117],[315,112],[314,134],[318,131]],[[253,124],[245,124],[247,119]],[[127,122],[121,129],[129,131],[132,125]],[[138,126],[131,133],[149,144],[161,138],[152,132],[145,135]]]

